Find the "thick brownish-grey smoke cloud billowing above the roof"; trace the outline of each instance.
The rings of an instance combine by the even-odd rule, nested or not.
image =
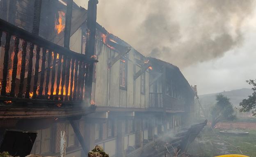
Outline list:
[[[97,21],[144,55],[185,67],[240,46],[253,8],[253,0],[99,0]]]

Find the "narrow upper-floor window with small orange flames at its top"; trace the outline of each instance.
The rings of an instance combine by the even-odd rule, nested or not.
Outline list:
[[[120,59],[120,88],[126,90],[127,60]]]

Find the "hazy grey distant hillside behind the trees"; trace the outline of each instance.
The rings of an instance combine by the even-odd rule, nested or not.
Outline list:
[[[229,97],[234,106],[238,106],[243,99],[246,99],[248,95],[252,94],[252,90],[249,88],[242,88],[232,91],[224,91],[220,93]],[[203,106],[212,106],[216,103],[215,95],[217,94],[219,93],[199,95],[199,100]]]

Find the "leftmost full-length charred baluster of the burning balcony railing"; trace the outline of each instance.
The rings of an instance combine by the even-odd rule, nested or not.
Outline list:
[[[2,81],[2,91],[1,91],[1,95],[3,95],[3,96],[6,95],[10,40],[11,40],[11,34],[6,33],[3,81]]]

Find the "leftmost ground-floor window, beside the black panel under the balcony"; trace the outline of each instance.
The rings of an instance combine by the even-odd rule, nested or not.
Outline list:
[[[37,130],[37,138],[31,150],[32,154],[49,153],[51,148],[51,128]]]

